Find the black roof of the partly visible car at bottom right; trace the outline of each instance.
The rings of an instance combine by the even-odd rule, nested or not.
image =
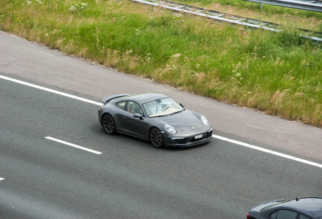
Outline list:
[[[270,205],[262,210],[271,208],[285,208],[296,209],[299,212],[307,213],[309,215],[318,215],[318,218],[322,218],[322,198],[300,198],[286,200],[277,204]]]

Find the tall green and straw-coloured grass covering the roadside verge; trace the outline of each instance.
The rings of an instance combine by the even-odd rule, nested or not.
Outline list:
[[[1,30],[128,74],[322,127],[322,48],[296,29],[320,30],[318,13],[267,5],[258,12],[243,1],[198,2],[245,17],[254,12],[255,19],[280,17],[289,25],[276,33],[127,0],[31,2],[1,1]]]

